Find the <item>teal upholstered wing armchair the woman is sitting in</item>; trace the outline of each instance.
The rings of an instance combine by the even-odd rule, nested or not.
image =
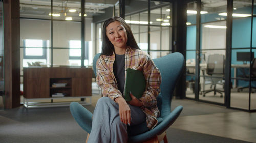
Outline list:
[[[96,73],[96,61],[99,55],[100,54],[97,54],[94,58],[94,73]],[[157,97],[157,106],[160,111],[160,117],[157,118],[158,125],[152,130],[148,129],[146,122],[136,126],[128,126],[128,142],[158,142],[158,140],[163,139],[164,142],[167,143],[165,130],[174,123],[183,109],[182,106],[178,106],[172,112],[170,110],[172,94],[184,68],[183,55],[176,52],[153,59],[153,61],[159,68],[162,76],[162,83],[160,85],[161,92]],[[92,113],[77,102],[70,104],[70,111],[81,128],[90,134],[92,128]]]

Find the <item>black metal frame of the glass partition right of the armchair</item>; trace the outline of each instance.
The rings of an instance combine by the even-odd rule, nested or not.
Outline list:
[[[226,106],[227,108],[231,109],[238,109],[242,111],[248,111],[248,112],[256,112],[256,109],[251,109],[251,76],[249,77],[249,104],[248,104],[248,109],[242,109],[242,108],[237,108],[237,107],[231,107],[230,105],[230,94],[231,94],[231,80],[234,78],[231,78],[231,53],[232,50],[234,49],[245,49],[245,48],[232,48],[232,23],[233,23],[233,0],[228,0],[227,1],[227,18],[226,18],[226,25],[227,25],[227,30],[226,30],[226,48],[225,49],[211,49],[211,50],[226,50],[226,59],[225,59],[225,96],[224,96],[224,103],[218,103],[218,102],[212,102],[212,101],[206,101],[206,100],[201,100],[199,99],[199,58],[200,58],[200,52],[203,51],[202,49],[200,50],[200,11],[201,11],[201,0],[195,0],[197,2],[197,19],[196,19],[196,27],[197,27],[197,33],[196,33],[196,81],[195,81],[195,98],[190,98],[190,97],[185,97],[186,99],[190,100],[196,100],[200,102],[205,102],[205,103],[211,103],[211,104],[216,104],[216,105],[222,105]],[[194,2],[195,2],[194,1]],[[193,2],[193,1],[187,1],[187,2]],[[251,16],[251,43],[250,47],[247,49],[250,49],[250,52],[252,52],[252,49],[255,49],[252,47],[252,28],[253,28],[253,4],[254,0],[252,0],[252,16]],[[236,18],[237,19],[237,18]],[[219,20],[220,21],[220,20]],[[218,21],[218,22],[219,22]],[[214,22],[214,21],[213,21]],[[195,24],[194,24],[195,25]],[[186,50],[186,51],[195,51],[195,50]],[[251,57],[252,58],[252,57]],[[251,63],[251,62],[250,62]],[[252,65],[250,64],[250,72],[252,70]]]

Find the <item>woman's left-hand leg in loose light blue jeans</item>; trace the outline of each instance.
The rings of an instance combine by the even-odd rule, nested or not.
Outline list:
[[[109,97],[98,100],[88,143],[127,142],[127,126],[121,122],[118,109],[118,103]]]

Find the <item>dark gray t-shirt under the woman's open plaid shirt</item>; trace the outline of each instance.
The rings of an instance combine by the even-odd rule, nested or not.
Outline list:
[[[113,65],[113,71],[117,81],[118,90],[122,94],[123,94],[124,83],[125,83],[124,70],[125,70],[124,54],[123,55],[116,54],[115,62]]]

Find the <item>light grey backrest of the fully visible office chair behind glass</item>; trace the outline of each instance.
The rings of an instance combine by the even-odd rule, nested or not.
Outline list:
[[[225,57],[223,54],[211,54],[208,56],[206,73],[212,74],[224,74]]]

